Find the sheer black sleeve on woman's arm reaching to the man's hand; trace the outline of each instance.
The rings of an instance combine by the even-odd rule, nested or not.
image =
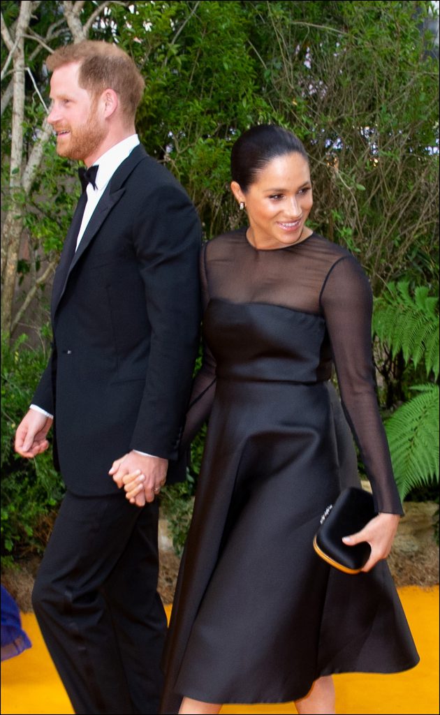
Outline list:
[[[210,300],[207,290],[207,277],[205,269],[206,245],[202,246],[200,254],[200,284],[202,287],[202,308],[205,312]],[[206,342],[203,343],[202,366],[192,383],[190,405],[187,410],[185,429],[183,430],[181,448],[187,449],[200,430],[202,424],[207,420],[212,408],[215,394],[215,358],[212,355]]]

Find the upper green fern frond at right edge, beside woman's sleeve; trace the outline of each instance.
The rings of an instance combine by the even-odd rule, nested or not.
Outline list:
[[[374,303],[373,332],[392,355],[402,352],[414,368],[424,360],[426,375],[439,377],[439,297],[418,286],[411,295],[409,281],[390,282]]]

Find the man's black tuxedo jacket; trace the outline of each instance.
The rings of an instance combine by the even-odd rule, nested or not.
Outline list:
[[[117,491],[108,471],[131,449],[177,459],[200,326],[200,236],[184,189],[141,146],[70,263],[67,236],[52,356],[33,402],[54,414],[54,455],[74,493]]]

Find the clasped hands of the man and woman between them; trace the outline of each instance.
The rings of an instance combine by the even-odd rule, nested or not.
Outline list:
[[[112,464],[109,475],[120,489],[124,487],[131,504],[145,506],[155,501],[167,478],[168,460],[129,452]]]

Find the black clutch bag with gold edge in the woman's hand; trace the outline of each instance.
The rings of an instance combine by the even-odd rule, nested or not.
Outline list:
[[[344,573],[359,573],[371,553],[366,541],[356,546],[346,546],[343,536],[361,531],[376,516],[373,496],[364,489],[344,489],[334,504],[326,508],[321,526],[313,538],[313,548],[318,556]]]

